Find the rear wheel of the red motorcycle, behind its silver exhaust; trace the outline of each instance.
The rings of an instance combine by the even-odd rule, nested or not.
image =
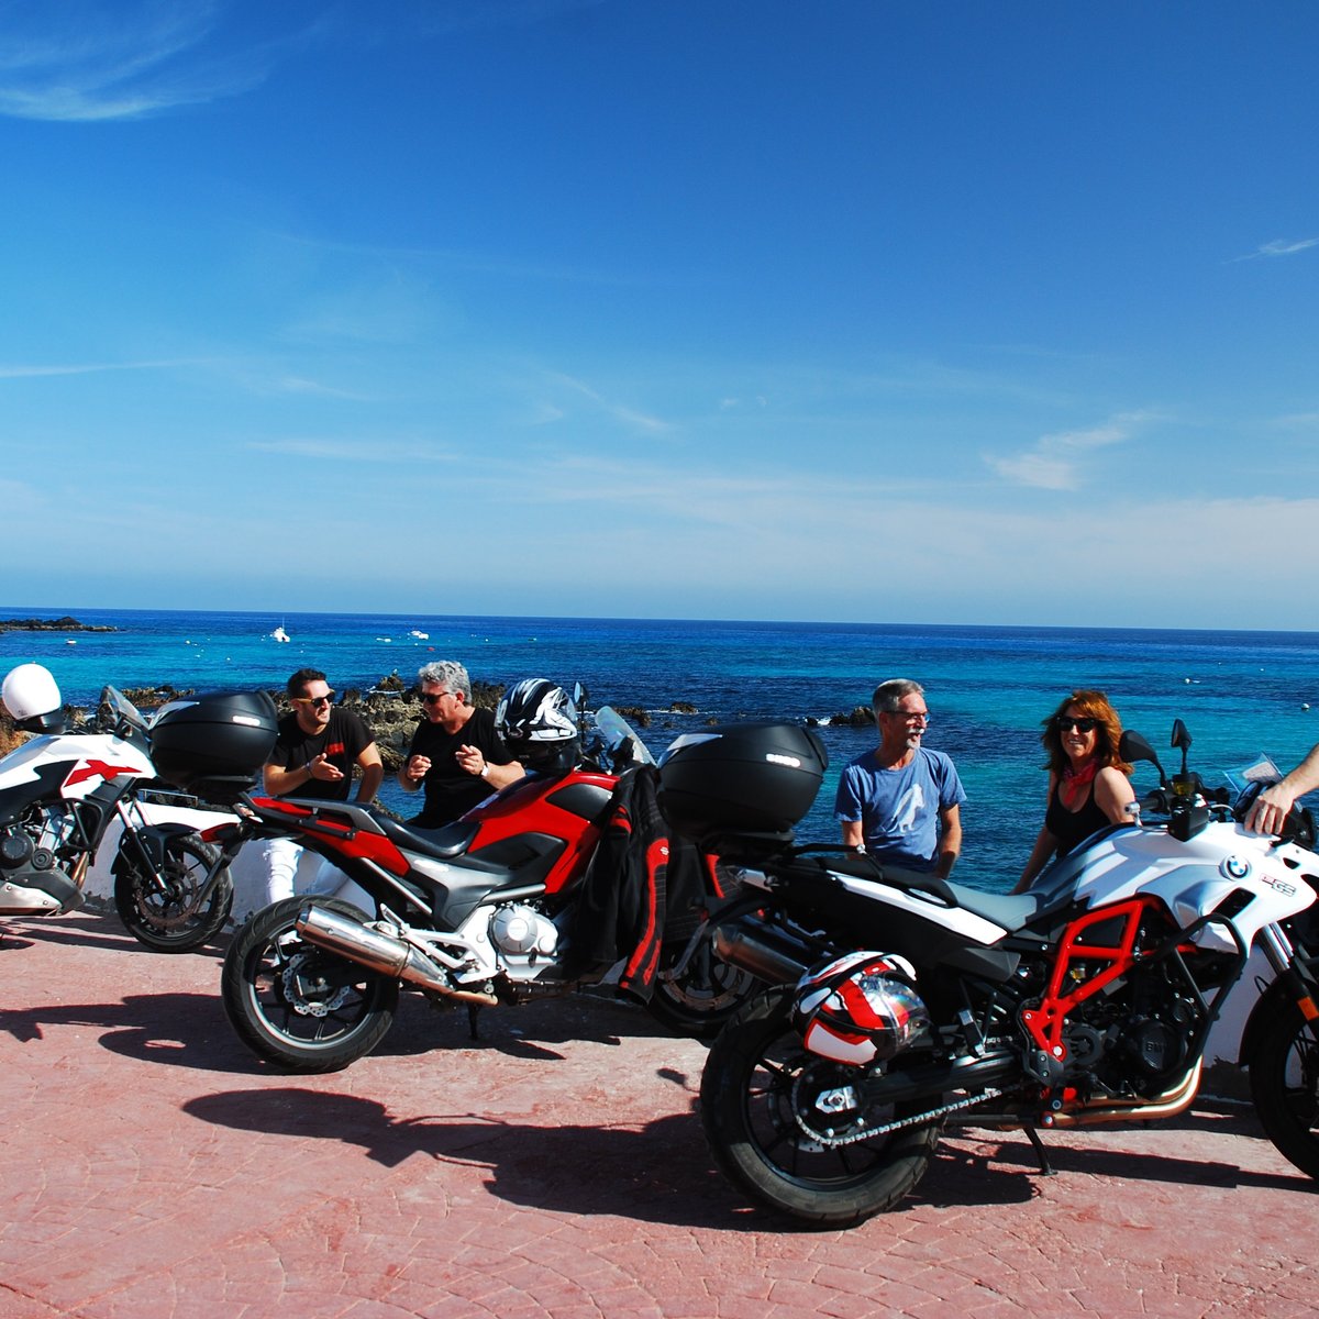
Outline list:
[[[351,902],[315,905],[359,921]],[[294,925],[306,898],[257,911],[224,956],[220,1000],[239,1038],[284,1071],[331,1072],[384,1039],[398,1006],[398,981],[303,940]]]

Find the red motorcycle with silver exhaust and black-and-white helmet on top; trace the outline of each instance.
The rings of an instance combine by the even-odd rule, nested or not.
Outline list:
[[[244,820],[227,849],[290,836],[355,885],[330,898],[274,902],[235,935],[222,998],[259,1058],[299,1072],[347,1067],[384,1038],[400,988],[435,1006],[475,1010],[599,979],[601,964],[582,960],[583,934],[592,931],[575,922],[583,893],[595,892],[588,869],[621,809],[624,776],[644,783],[653,760],[617,712],[579,718],[576,703],[545,679],[512,689],[499,719],[530,772],[439,830],[410,828],[351,802],[240,799]],[[620,831],[636,824],[628,818]],[[673,881],[666,843],[646,851],[644,869],[630,896],[613,892],[612,869],[601,874],[609,929],[638,931],[619,952],[620,984],[670,1029],[708,1033],[754,980],[711,958],[699,914],[674,904],[666,911],[656,892]],[[719,896],[714,864],[700,869],[702,901]],[[682,918],[690,929],[679,936]]]

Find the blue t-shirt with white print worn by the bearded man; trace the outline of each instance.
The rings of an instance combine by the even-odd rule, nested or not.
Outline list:
[[[952,760],[918,747],[909,765],[880,769],[874,752],[849,761],[838,782],[834,815],[861,823],[865,851],[909,871],[933,871],[939,813],[967,799]]]

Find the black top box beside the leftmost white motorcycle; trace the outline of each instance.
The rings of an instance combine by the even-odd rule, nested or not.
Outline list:
[[[274,749],[278,716],[264,691],[218,691],[161,706],[150,725],[156,773],[178,787],[253,780]]]

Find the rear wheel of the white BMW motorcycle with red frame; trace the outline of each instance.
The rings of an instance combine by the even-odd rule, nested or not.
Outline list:
[[[700,1119],[715,1163],[751,1200],[816,1228],[847,1228],[892,1210],[934,1158],[942,1117],[921,1121],[940,1103],[892,1105],[885,1120],[917,1119],[889,1134],[827,1144],[809,1130],[847,1136],[845,1115],[813,1101],[844,1092],[857,1076],[806,1050],[790,1018],[793,988],[753,998],[711,1046],[700,1079]],[[865,1113],[867,1125],[877,1125]],[[853,1133],[861,1128],[853,1124]]]

